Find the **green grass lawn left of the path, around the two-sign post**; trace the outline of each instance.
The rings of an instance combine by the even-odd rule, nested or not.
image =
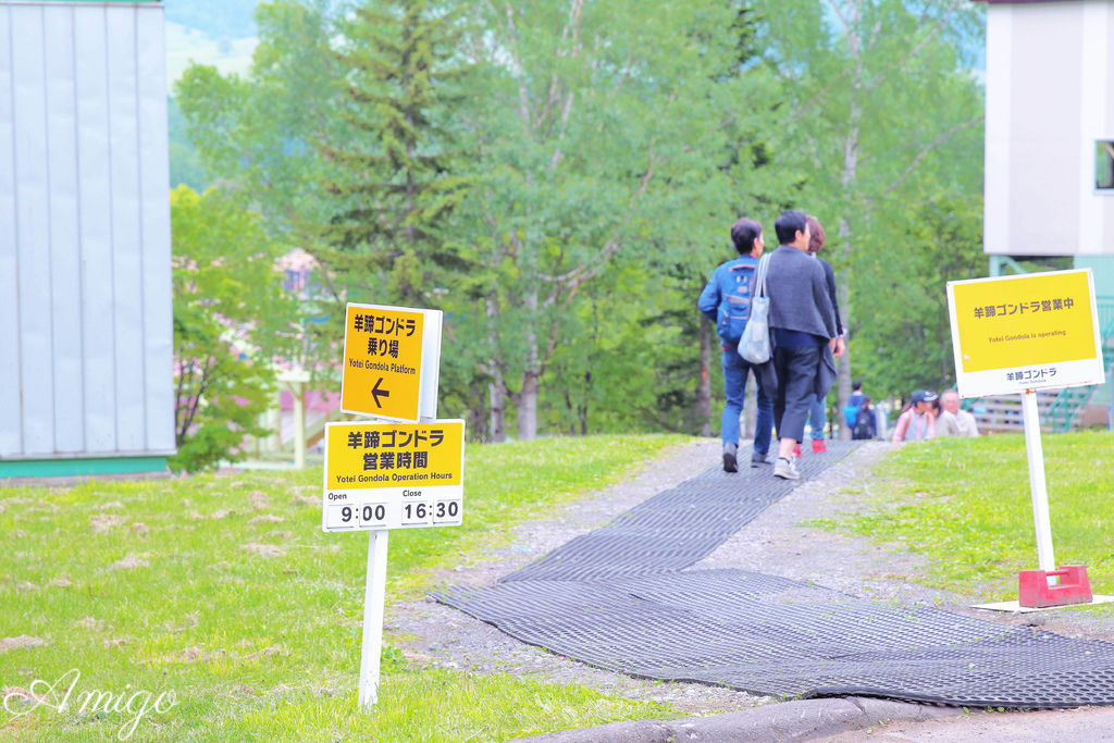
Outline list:
[[[469,446],[463,526],[392,532],[388,600],[685,440]],[[485,741],[676,716],[578,686],[416,667],[389,636],[377,712],[359,714],[368,537],[321,531],[321,480],[317,468],[0,488],[0,638],[22,638],[0,647],[0,688],[45,700],[19,715],[10,696],[0,731],[123,737],[146,707],[131,740]],[[71,682],[69,707],[51,708]],[[105,692],[125,693],[130,712],[79,711],[79,695]]]

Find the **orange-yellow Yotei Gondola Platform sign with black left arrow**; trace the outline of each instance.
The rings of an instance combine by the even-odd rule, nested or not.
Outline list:
[[[393,420],[434,418],[440,315],[429,310],[349,304],[341,410]],[[432,393],[423,364],[432,366]]]

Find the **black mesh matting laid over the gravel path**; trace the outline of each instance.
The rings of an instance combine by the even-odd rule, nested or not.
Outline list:
[[[814,475],[847,453],[803,458]],[[789,492],[770,468],[662,492],[501,583],[442,603],[610,671],[782,697],[1114,704],[1114,644],[879,604],[744,570],[683,570]],[[743,475],[743,473],[740,473]]]

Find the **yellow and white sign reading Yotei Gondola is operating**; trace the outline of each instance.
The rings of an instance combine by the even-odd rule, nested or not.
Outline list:
[[[1089,270],[949,282],[948,310],[964,397],[1103,381]]]

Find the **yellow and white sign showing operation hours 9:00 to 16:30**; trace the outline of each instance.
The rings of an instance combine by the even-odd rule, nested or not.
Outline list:
[[[461,522],[465,422],[329,423],[325,531]]]

